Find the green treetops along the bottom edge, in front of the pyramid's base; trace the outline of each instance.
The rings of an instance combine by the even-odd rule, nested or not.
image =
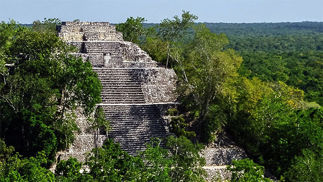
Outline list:
[[[87,154],[83,164],[75,158],[60,161],[55,172],[56,181],[204,182],[205,160],[199,156],[201,144],[173,136],[167,139],[170,150],[162,148],[162,143],[160,139],[152,139],[145,151],[132,157],[112,139],[106,140],[102,147]],[[82,165],[86,165],[89,172]]]

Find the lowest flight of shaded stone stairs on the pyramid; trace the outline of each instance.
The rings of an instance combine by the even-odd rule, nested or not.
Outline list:
[[[109,136],[130,155],[145,150],[151,138],[163,139],[168,135],[154,104],[104,104],[102,108],[113,126]]]

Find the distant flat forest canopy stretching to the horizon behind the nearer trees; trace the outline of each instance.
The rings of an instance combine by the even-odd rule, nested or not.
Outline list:
[[[309,102],[323,105],[323,22],[203,24],[212,33],[226,34],[227,48],[241,54],[240,74],[282,81],[305,91]],[[156,25],[143,23],[146,28]]]

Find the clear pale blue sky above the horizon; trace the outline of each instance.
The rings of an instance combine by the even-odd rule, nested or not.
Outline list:
[[[139,16],[159,23],[182,10],[197,15],[196,22],[323,21],[323,0],[0,0],[0,21],[29,24],[59,18],[119,23]]]

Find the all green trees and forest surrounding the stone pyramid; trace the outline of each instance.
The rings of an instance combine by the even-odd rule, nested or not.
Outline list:
[[[154,26],[141,17],[116,25],[126,41],[176,72],[182,104],[168,115],[177,139],[168,138],[167,149],[153,140],[137,157],[107,140],[88,153],[88,172],[71,158],[55,174],[48,171],[54,154],[78,131],[73,112],[57,105],[94,111],[98,80],[88,62],[68,56],[73,48],[55,36],[58,19],[31,28],[2,22],[0,181],[203,181],[199,142],[212,143],[222,131],[257,163],[233,162],[232,182],[268,181],[259,165],[282,182],[323,181],[322,23],[196,19],[183,11]],[[102,111],[95,112],[93,127],[107,129]]]

